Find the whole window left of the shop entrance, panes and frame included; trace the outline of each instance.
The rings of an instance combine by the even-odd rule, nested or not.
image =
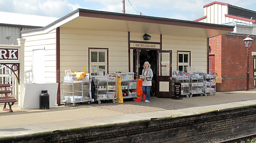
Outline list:
[[[107,50],[103,49],[90,49],[90,73],[99,75],[103,71],[105,75],[107,71]]]

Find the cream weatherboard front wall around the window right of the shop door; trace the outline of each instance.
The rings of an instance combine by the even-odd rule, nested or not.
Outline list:
[[[172,50],[172,70],[177,70],[177,51],[191,52],[191,67],[207,69],[207,39],[163,35],[163,50]]]

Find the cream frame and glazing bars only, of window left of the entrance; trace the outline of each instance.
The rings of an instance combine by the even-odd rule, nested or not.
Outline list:
[[[99,75],[99,66],[105,66],[105,74],[107,73],[107,49],[90,49],[89,50],[89,52],[90,52],[90,57],[89,57],[89,63],[90,63],[90,67],[89,67],[89,69],[90,69],[90,73],[93,73],[93,72],[95,72],[95,71],[92,71],[92,66],[97,66],[97,74]],[[91,57],[92,57],[92,54],[91,54],[91,52],[98,52],[98,54],[97,54],[97,62],[92,62],[91,61]],[[105,52],[105,62],[99,62],[99,52]]]

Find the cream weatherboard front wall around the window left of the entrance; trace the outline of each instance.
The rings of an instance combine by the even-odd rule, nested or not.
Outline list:
[[[89,72],[88,48],[109,49],[109,73],[129,70],[128,32],[61,28],[60,41],[61,80],[67,69]]]

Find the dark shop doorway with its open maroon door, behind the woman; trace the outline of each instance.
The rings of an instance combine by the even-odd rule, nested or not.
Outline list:
[[[152,86],[150,95],[156,97],[170,97],[171,90],[171,50],[133,50],[133,72],[137,75],[142,74],[145,61],[148,61],[153,71]]]

